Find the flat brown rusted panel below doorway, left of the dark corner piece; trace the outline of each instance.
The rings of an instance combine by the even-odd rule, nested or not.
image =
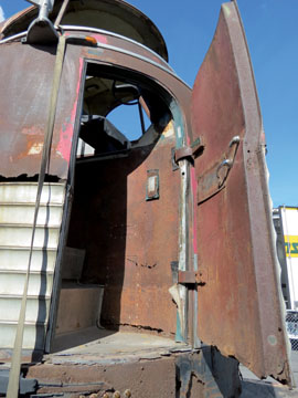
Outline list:
[[[171,397],[175,395],[175,357],[128,362],[120,365],[108,363],[88,366],[86,364],[51,363],[29,368],[29,378],[38,378],[39,394],[98,394],[111,398],[115,390],[120,397]],[[152,383],[152,380],[156,380]],[[128,392],[127,392],[128,394]]]

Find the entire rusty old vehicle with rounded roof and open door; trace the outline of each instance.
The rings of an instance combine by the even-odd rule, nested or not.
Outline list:
[[[29,274],[21,392],[36,379],[34,396],[238,396],[237,360],[290,385],[236,3],[192,90],[140,11],[64,4],[0,25],[1,362]],[[129,142],[107,117],[131,102],[143,134]]]

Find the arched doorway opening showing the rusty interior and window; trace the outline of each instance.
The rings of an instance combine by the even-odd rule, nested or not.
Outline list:
[[[180,176],[171,101],[141,74],[87,64],[54,352],[88,342],[94,349],[98,339],[109,353],[175,344],[169,289]]]

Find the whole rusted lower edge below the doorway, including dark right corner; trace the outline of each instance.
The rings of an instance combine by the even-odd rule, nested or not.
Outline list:
[[[200,352],[168,352],[151,348],[129,353],[115,364],[107,359],[93,363],[88,355],[51,355],[41,365],[30,366],[26,377],[39,380],[39,394],[98,394],[100,397],[240,397],[238,364],[223,357],[215,348]],[[57,359],[57,362],[55,362]],[[121,369],[119,371],[119,369]],[[153,380],[153,381],[152,381]],[[106,394],[106,396],[104,395]]]

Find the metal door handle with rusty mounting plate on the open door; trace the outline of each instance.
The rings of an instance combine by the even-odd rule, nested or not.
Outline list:
[[[216,161],[205,174],[198,179],[198,205],[220,192],[224,187],[235,160],[241,138],[234,136],[228,150],[220,161]]]

